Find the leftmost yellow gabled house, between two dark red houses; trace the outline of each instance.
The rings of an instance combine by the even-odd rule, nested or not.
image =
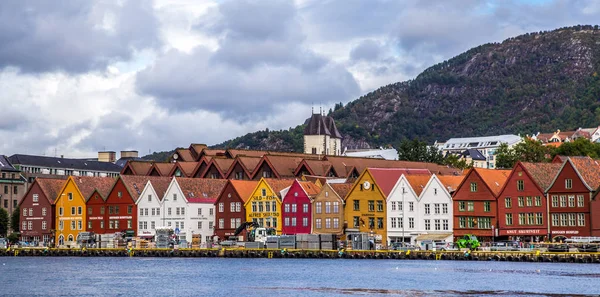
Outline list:
[[[55,238],[57,246],[74,245],[77,235],[86,231],[86,202],[94,190],[104,190],[115,182],[112,177],[69,176],[56,197]]]

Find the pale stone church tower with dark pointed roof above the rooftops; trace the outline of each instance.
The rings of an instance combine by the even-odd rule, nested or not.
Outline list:
[[[312,113],[304,122],[304,153],[314,155],[342,154],[342,134],[330,116]]]

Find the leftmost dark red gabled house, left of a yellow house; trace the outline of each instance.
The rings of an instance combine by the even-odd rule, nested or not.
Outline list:
[[[54,235],[54,200],[65,180],[38,177],[21,199],[21,240],[50,244]]]

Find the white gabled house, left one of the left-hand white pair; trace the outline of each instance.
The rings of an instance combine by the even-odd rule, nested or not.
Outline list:
[[[163,208],[162,198],[171,182],[170,177],[153,178],[146,183],[136,201],[138,208],[138,236],[151,238],[155,229],[162,226]]]

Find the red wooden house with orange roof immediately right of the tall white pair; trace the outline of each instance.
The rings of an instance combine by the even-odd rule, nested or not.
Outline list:
[[[472,168],[458,186],[453,200],[454,237],[472,234],[492,241],[497,228],[497,197],[510,170]]]

